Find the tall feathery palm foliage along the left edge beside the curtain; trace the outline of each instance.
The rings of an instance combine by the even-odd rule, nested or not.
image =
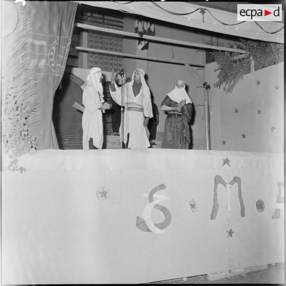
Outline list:
[[[8,170],[26,171],[17,167],[18,157],[36,149],[36,138],[29,128],[35,124],[38,89],[35,71],[31,68],[31,27],[28,16],[21,6],[16,29],[5,38],[3,44],[1,108],[2,150],[11,159]]]

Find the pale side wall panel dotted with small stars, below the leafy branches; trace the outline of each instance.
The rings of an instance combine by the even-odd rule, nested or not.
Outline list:
[[[284,63],[244,75],[228,94],[213,87],[218,81],[215,68],[216,63],[205,68],[211,86],[211,149],[283,152]]]

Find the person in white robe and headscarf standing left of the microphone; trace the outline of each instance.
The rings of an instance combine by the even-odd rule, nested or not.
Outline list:
[[[103,86],[101,85],[101,70],[92,68],[87,76],[87,85],[83,93],[83,105],[85,106],[83,127],[83,149],[89,149],[89,140],[92,138],[93,146],[97,149],[103,147],[103,115],[110,105],[104,102]]]

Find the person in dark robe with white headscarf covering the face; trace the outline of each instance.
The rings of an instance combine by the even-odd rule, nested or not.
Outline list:
[[[169,92],[161,103],[161,110],[167,111],[162,148],[189,149],[192,100],[185,90],[183,80],[176,82],[175,89]]]

